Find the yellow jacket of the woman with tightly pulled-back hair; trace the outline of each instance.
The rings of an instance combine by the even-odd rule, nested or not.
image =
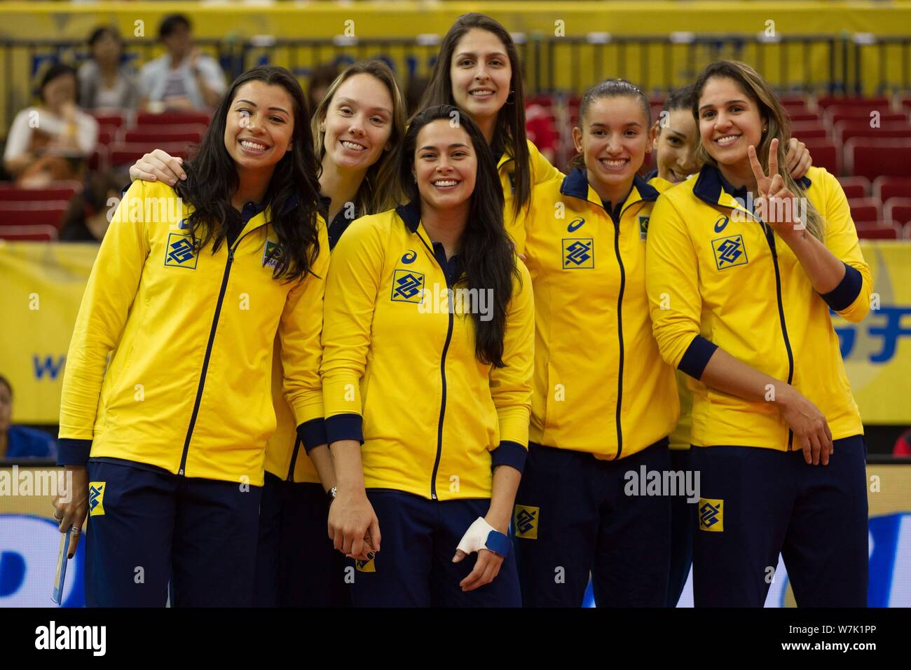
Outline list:
[[[619,459],[674,428],[674,371],[651,335],[645,291],[658,196],[637,177],[615,221],[584,168],[535,188],[524,251],[535,290],[532,442]]]

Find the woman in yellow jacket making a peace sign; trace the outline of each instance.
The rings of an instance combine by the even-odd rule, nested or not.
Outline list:
[[[705,165],[656,203],[646,276],[692,377],[695,604],[762,606],[781,552],[798,604],[864,606],[864,429],[829,309],[860,321],[871,280],[844,191],[779,169],[788,122],[752,67],[707,67],[693,116]]]

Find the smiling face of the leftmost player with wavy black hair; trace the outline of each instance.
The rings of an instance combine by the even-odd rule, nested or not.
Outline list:
[[[242,170],[272,170],[292,149],[294,111],[284,88],[248,81],[234,94],[225,123],[225,148]]]

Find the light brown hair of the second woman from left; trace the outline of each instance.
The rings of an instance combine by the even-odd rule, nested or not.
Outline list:
[[[320,100],[320,104],[311,119],[313,149],[316,152],[317,162],[322,165],[322,159],[326,155],[324,141],[326,133],[320,129],[320,124],[326,119],[326,114],[333,102],[335,92],[347,79],[354,75],[370,75],[379,79],[389,89],[390,98],[393,98],[393,131],[389,136],[392,149],[384,150],[379,160],[367,168],[367,173],[364,175],[361,186],[354,195],[354,206],[359,211],[366,214],[376,214],[380,211],[391,210],[402,201],[398,181],[398,167],[400,145],[402,144],[402,138],[404,138],[405,128],[402,91],[395,81],[393,71],[382,60],[354,63],[345,67],[342,74],[335,77],[333,83],[326,89],[326,93],[322,96],[322,100]]]

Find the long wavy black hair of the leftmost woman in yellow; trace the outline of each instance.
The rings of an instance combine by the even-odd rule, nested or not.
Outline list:
[[[281,86],[292,98],[292,150],[276,163],[262,204],[271,209],[272,228],[283,250],[274,257],[273,276],[301,279],[311,272],[319,253],[316,216],[320,186],[316,179],[317,163],[303,91],[287,69],[251,67],[234,80],[212,115],[199,153],[183,166],[187,180],[179,181],[175,189],[195,208],[187,224],[197,249],[212,242],[212,253],[215,253],[225,241],[230,226],[239,227],[241,223],[241,212],[230,202],[238,187],[238,175],[237,167],[225,149],[224,135],[234,96],[238,88],[250,81]]]

